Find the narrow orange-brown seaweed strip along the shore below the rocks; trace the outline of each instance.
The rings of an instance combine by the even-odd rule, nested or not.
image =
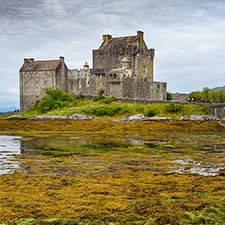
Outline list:
[[[199,121],[143,121],[117,123],[114,121],[33,121],[0,119],[1,133],[147,133],[147,132],[222,132],[218,122]]]

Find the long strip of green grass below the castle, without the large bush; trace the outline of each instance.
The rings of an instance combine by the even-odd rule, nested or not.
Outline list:
[[[182,115],[204,115],[204,107],[195,104],[137,104],[124,103],[115,99],[106,98],[102,100],[76,99],[73,106],[62,107],[41,113],[33,108],[27,112],[21,113],[21,116],[32,117],[36,115],[48,116],[70,116],[75,113],[86,114],[94,117],[121,117],[125,115],[145,114],[146,116],[171,117],[177,119]]]

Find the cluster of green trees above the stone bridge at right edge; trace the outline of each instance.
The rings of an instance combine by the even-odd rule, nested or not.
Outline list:
[[[205,102],[205,103],[224,103],[225,102],[225,91],[218,90],[213,91],[209,88],[203,88],[203,91],[194,91],[189,95],[189,99],[195,102]]]

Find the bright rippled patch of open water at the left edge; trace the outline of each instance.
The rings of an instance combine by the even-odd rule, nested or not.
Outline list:
[[[13,173],[19,168],[16,155],[20,154],[21,137],[0,136],[0,174]]]

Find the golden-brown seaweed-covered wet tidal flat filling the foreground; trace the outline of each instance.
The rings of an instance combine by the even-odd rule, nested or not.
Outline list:
[[[18,166],[0,175],[0,222],[223,224],[225,132],[140,124],[20,131]]]

